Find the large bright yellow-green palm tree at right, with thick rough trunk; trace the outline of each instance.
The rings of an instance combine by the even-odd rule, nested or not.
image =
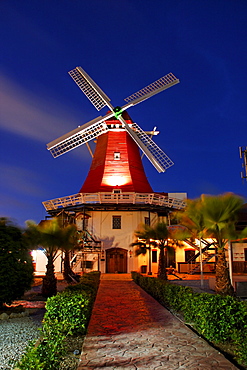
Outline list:
[[[242,198],[228,193],[219,196],[202,195],[189,200],[184,211],[178,213],[185,231],[177,234],[180,239],[212,238],[217,248],[215,291],[221,295],[233,295],[229,270],[226,264],[225,245],[236,238],[237,214],[243,205]]]

